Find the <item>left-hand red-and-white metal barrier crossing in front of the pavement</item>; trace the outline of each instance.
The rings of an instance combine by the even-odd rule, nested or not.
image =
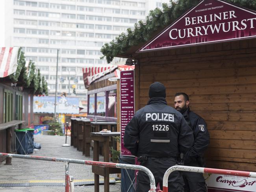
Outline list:
[[[69,192],[69,188],[70,188],[70,192],[74,192],[74,182],[73,182],[74,179],[72,176],[69,175],[69,163],[140,170],[145,172],[149,177],[150,190],[148,192],[156,192],[156,183],[155,183],[154,175],[148,168],[140,165],[121,164],[121,163],[113,163],[113,162],[100,162],[100,161],[87,161],[87,160],[79,160],[79,159],[65,159],[65,158],[56,158],[56,157],[42,157],[42,156],[33,156],[33,155],[18,155],[18,154],[11,154],[11,153],[0,153],[0,157],[65,162],[65,192]]]

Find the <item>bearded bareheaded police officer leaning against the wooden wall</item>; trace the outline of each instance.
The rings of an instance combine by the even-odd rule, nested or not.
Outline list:
[[[175,94],[174,106],[177,111],[182,113],[194,133],[193,147],[184,157],[185,165],[204,167],[204,159],[202,156],[210,142],[206,122],[202,117],[190,111],[189,97],[186,93],[180,92]],[[207,192],[202,173],[183,172],[182,176],[185,182],[185,192]]]

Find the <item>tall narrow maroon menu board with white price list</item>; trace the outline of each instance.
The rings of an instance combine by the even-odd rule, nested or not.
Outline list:
[[[132,156],[124,147],[124,131],[135,113],[134,70],[120,72],[121,155]]]

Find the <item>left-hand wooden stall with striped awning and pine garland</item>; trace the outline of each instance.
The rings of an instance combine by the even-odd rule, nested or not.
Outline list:
[[[15,129],[33,127],[33,95],[47,93],[47,87],[40,72],[36,74],[34,64],[30,61],[25,65],[19,47],[0,50],[0,151],[15,153]],[[2,161],[4,158],[0,158]],[[11,164],[11,158],[6,158],[6,164]]]

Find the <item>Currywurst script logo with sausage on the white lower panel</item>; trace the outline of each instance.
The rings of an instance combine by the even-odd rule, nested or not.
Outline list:
[[[246,187],[246,186],[252,186],[256,185],[256,181],[247,181],[247,179],[239,178],[239,177],[234,177],[230,175],[224,175],[225,177],[230,177],[230,179],[223,178],[223,176],[219,176],[216,178],[217,183],[226,183],[228,186],[234,186],[234,187]],[[235,180],[236,179],[236,180]]]

